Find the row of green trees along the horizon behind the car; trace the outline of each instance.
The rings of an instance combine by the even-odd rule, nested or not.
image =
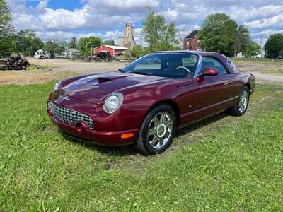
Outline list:
[[[132,57],[141,57],[154,51],[181,49],[175,23],[166,23],[163,15],[154,13],[147,7],[147,16],[143,20],[142,36],[148,44],[146,47],[136,45],[132,49]],[[33,30],[20,30],[16,33],[11,23],[11,11],[5,0],[0,0],[0,57],[6,53],[33,56],[38,49],[44,49],[52,57],[62,55],[67,49],[76,48],[82,56],[93,54],[93,48],[100,45],[115,45],[114,40],[102,41],[100,37],[72,37],[65,40],[47,40],[42,42]],[[225,13],[214,13],[204,19],[198,33],[201,46],[206,51],[220,52],[228,57],[236,57],[243,52],[246,57],[260,54],[260,46],[251,40],[246,25],[238,25]],[[181,39],[182,40],[182,39]],[[265,43],[267,57],[275,58],[283,55],[283,34],[270,35]]]

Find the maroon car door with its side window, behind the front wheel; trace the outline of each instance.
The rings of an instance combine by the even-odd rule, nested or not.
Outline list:
[[[187,90],[187,102],[190,102],[187,113],[183,114],[183,122],[196,122],[205,117],[217,114],[233,105],[236,99],[233,89],[233,74],[224,64],[214,57],[203,57],[202,69],[213,68],[219,71],[217,76],[194,78]]]

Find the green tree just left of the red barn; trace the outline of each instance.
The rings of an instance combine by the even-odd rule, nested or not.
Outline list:
[[[93,48],[102,44],[100,37],[83,37],[79,40],[79,50],[82,56],[90,56],[93,54]]]

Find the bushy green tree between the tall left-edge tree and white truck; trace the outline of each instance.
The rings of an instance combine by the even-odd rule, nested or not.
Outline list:
[[[33,30],[21,30],[16,35],[16,50],[24,55],[32,56],[44,43],[35,35]]]

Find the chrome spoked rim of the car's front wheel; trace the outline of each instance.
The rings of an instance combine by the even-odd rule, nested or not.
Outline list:
[[[159,112],[151,119],[147,139],[155,148],[162,148],[169,141],[173,130],[173,119],[168,112]]]

